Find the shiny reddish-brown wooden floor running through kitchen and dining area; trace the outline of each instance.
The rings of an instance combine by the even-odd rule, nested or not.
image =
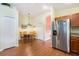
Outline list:
[[[74,53],[65,53],[51,47],[51,40],[46,42],[33,40],[32,42],[19,43],[19,47],[6,49],[0,56],[78,56]]]

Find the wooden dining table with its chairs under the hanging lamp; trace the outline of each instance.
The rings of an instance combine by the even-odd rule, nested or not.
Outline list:
[[[20,32],[20,38],[22,40],[22,42],[30,42],[30,41],[33,41],[36,39],[36,32],[33,31],[33,32],[26,32],[26,31],[22,31]]]

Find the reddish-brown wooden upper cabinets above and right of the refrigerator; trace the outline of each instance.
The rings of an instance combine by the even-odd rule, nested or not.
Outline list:
[[[67,16],[61,16],[55,18],[56,20],[66,20],[70,19],[71,21],[71,26],[79,26],[79,13],[72,14],[72,15],[67,15]]]

